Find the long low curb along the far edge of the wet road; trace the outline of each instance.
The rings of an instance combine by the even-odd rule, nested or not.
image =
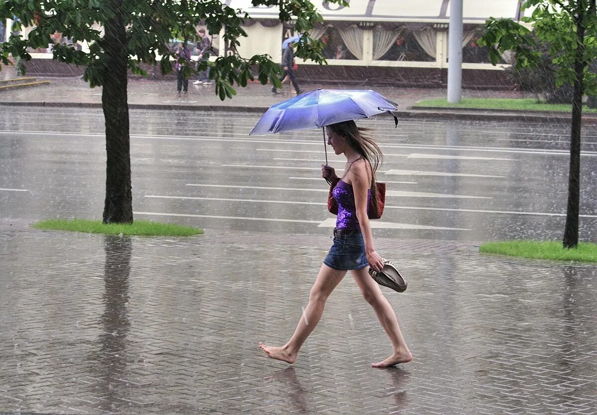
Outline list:
[[[48,108],[100,108],[101,103],[52,103],[52,102],[0,102],[0,106],[20,107],[48,107]],[[205,112],[245,112],[264,113],[269,106],[224,106],[224,105],[186,105],[186,104],[128,104],[133,110],[186,110]],[[418,110],[418,109],[421,110]],[[472,110],[469,112],[468,110]],[[526,111],[522,113],[522,111]],[[509,121],[533,123],[570,123],[571,116],[561,112],[500,112],[490,109],[450,109],[444,107],[407,107],[407,111],[395,111],[396,117],[401,119],[435,119],[435,120],[464,120],[464,121]],[[584,125],[597,125],[597,117],[583,116]]]

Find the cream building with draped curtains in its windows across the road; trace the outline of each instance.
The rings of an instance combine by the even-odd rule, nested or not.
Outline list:
[[[211,34],[218,54],[238,53],[243,56],[269,54],[273,60],[282,57],[282,42],[298,35],[291,24],[281,24],[278,8],[254,7],[251,0],[221,0],[235,9],[247,11],[252,17],[244,23],[248,37],[240,39],[236,51],[224,44],[219,33]],[[350,7],[312,0],[325,23],[311,31],[312,38],[324,42],[327,66],[312,61],[297,60],[301,82],[355,83],[396,86],[445,86],[448,70],[449,0],[350,0]],[[487,50],[476,41],[488,17],[521,20],[519,0],[465,0],[463,10],[463,86],[465,88],[515,88],[503,76],[509,57],[493,66]],[[8,20],[4,30],[10,35]],[[30,29],[24,30],[27,36]],[[55,42],[69,39],[56,35]],[[71,42],[72,43],[72,42]],[[66,67],[51,61],[51,47],[32,52],[27,63],[32,75],[69,75],[82,69]],[[86,45],[75,45],[86,48]],[[196,58],[196,57],[195,57]],[[212,57],[212,60],[216,56]],[[50,61],[48,61],[50,59]],[[159,71],[152,72],[159,78]]]

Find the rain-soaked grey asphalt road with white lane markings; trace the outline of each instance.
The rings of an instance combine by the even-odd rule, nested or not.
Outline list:
[[[329,234],[322,134],[248,136],[259,114],[131,110],[136,218],[208,229]],[[564,232],[570,127],[361,120],[386,159],[377,237],[484,241],[559,239]],[[103,114],[2,107],[3,221],[101,218]],[[580,237],[597,241],[597,131],[584,126]],[[340,170],[341,156],[328,150]],[[23,191],[26,190],[26,191]]]

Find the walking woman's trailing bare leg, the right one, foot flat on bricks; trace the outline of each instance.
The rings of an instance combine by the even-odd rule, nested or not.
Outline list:
[[[350,273],[355,278],[356,283],[361,289],[361,293],[365,301],[370,303],[377,315],[377,319],[381,323],[381,327],[386,330],[386,334],[390,337],[390,342],[394,351],[392,355],[384,361],[374,363],[373,367],[388,367],[399,363],[407,363],[413,359],[413,355],[408,350],[407,343],[402,337],[402,332],[398,326],[398,318],[394,309],[381,293],[377,283],[370,277],[368,267],[361,268],[361,270],[352,270]]]

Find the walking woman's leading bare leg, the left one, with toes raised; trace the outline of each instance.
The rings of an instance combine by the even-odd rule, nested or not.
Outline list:
[[[319,323],[319,319],[324,312],[325,301],[344,278],[344,275],[346,275],[346,271],[334,270],[325,264],[321,266],[315,284],[309,292],[309,303],[304,309],[297,328],[294,330],[294,335],[288,340],[288,343],[281,347],[273,347],[259,342],[259,347],[268,357],[283,360],[287,363],[296,361],[298,351],[304,340],[309,337],[317,323]]]

